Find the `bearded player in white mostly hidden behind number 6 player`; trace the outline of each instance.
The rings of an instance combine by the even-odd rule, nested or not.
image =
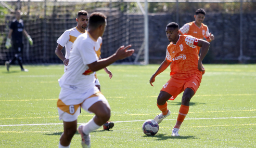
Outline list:
[[[72,45],[75,41],[75,39],[86,32],[86,28],[88,25],[88,21],[89,21],[89,14],[87,11],[85,10],[81,10],[78,12],[77,18],[75,19],[76,22],[78,22],[78,25],[75,28],[71,28],[69,30],[66,30],[57,40],[58,46],[55,50],[56,55],[59,57],[60,60],[63,61],[64,66],[64,71],[66,71],[67,66],[69,64],[69,57],[70,57],[70,51],[72,49]],[[63,53],[61,52],[61,50],[63,49],[63,47],[65,46],[66,48],[66,55],[65,57],[63,56]],[[109,74],[109,78],[112,77],[112,73],[107,69],[104,68],[105,72],[107,74]],[[96,73],[95,77],[95,86],[98,87],[99,91],[100,91],[100,83],[99,80],[97,78]],[[111,128],[114,127],[114,123],[113,122],[106,122],[106,124],[104,124],[103,129],[104,130],[109,130]]]

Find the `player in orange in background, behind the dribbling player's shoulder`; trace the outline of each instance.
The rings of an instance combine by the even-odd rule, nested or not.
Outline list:
[[[207,25],[202,23],[204,18],[206,18],[206,11],[202,8],[197,9],[194,17],[195,21],[186,23],[182,26],[180,34],[191,35],[199,39],[203,39],[204,37],[207,42],[212,42],[214,40],[214,35],[209,33]],[[197,50],[199,53],[200,48],[198,47]],[[202,72],[202,74],[204,74],[204,72]]]

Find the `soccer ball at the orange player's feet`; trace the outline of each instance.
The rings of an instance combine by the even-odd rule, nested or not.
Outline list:
[[[148,119],[142,125],[142,130],[147,136],[154,136],[157,134],[159,126],[155,120]]]

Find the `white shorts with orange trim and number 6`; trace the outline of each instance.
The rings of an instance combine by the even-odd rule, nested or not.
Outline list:
[[[98,101],[105,101],[108,104],[107,99],[102,95],[97,87],[94,87],[85,93],[73,92],[61,88],[57,102],[59,120],[62,119],[65,122],[73,122],[78,119],[80,106],[82,106],[82,109],[86,112],[89,112],[89,107]]]

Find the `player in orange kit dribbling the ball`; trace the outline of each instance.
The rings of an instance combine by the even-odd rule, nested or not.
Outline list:
[[[159,93],[157,106],[162,113],[157,115],[154,120],[160,124],[164,118],[169,116],[171,112],[167,107],[168,99],[172,96],[175,99],[184,91],[177,122],[172,129],[172,136],[180,136],[178,130],[180,130],[181,124],[188,113],[190,99],[195,95],[200,86],[201,72],[204,71],[202,60],[207,55],[210,43],[193,36],[179,35],[178,24],[174,22],[167,25],[165,32],[171,43],[167,46],[165,60],[152,75],[149,83],[153,86],[152,83],[155,82],[156,76],[167,69],[170,64],[171,78]],[[198,57],[196,46],[202,48],[200,57]]]

